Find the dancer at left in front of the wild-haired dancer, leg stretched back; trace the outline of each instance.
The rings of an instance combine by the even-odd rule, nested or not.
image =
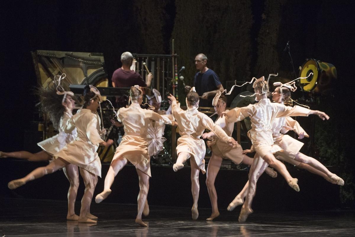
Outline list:
[[[86,92],[84,92],[83,109],[73,115],[63,129],[64,132],[70,133],[76,128],[78,133],[76,139],[54,154],[55,160],[49,165],[39,167],[25,177],[9,182],[8,187],[10,189],[18,188],[29,181],[53,173],[69,164],[79,166],[86,188],[81,200],[78,222],[96,223],[95,220],[87,217],[97,183],[97,176],[101,177],[101,162],[96,150],[98,145],[109,146],[113,141],[104,142],[99,135],[100,120],[96,110],[102,98],[98,90],[91,86],[86,88]]]

